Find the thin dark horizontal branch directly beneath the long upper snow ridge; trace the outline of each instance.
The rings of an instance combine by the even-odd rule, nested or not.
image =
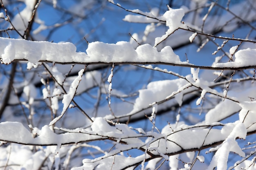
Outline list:
[[[16,59],[13,61],[28,61],[26,59]],[[112,62],[107,63],[107,62],[52,62],[48,60],[40,60],[38,62],[48,62],[48,63],[54,63],[54,64],[81,64],[81,65],[92,65],[92,64],[109,64],[112,65]],[[204,70],[245,70],[245,69],[250,69],[250,68],[256,68],[256,65],[252,66],[238,66],[238,67],[212,67],[212,66],[199,66],[199,65],[194,65],[194,64],[176,64],[176,63],[166,63],[166,62],[115,62],[115,65],[119,64],[142,64],[142,65],[147,65],[147,64],[161,64],[161,65],[168,65],[168,66],[180,66],[180,67],[189,67],[189,68],[200,68]]]

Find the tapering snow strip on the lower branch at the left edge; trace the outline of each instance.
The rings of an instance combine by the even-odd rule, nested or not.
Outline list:
[[[97,132],[102,133],[103,131],[106,131],[105,128],[111,127],[111,126],[109,125],[107,126],[107,123],[105,123],[104,126],[101,126],[101,127],[102,129],[99,129],[99,131],[88,131],[88,134],[77,133],[77,131],[74,131],[74,133],[72,133],[71,131],[65,134],[56,134],[49,128],[49,126],[45,125],[42,127],[41,130],[35,131],[38,134],[38,136],[36,138],[33,138],[31,132],[29,132],[29,130],[27,130],[27,128],[25,128],[21,123],[2,122],[0,123],[0,139],[1,141],[10,141],[10,142],[19,143],[19,144],[31,144],[31,145],[40,145],[40,146],[41,145],[60,145],[65,143],[67,144],[67,143],[73,143],[73,142],[79,142],[79,141],[86,141],[88,139],[89,140],[100,139],[102,137],[97,136],[96,135]],[[107,128],[107,130],[108,129],[109,128]],[[5,133],[5,130],[7,130],[8,133]],[[115,132],[121,133],[117,129],[115,130]],[[131,132],[134,132],[134,131],[131,130]],[[115,133],[109,132],[109,135],[111,134],[115,134]],[[135,142],[137,141],[135,140]]]

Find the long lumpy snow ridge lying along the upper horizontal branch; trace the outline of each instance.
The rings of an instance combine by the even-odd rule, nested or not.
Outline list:
[[[133,49],[129,42],[106,44],[92,42],[88,45],[86,53],[76,52],[76,46],[70,42],[51,43],[33,42],[22,39],[0,38],[0,55],[4,64],[13,60],[28,60],[36,64],[38,61],[50,62],[168,62],[182,64],[178,55],[170,46],[160,52],[149,44],[144,44]]]

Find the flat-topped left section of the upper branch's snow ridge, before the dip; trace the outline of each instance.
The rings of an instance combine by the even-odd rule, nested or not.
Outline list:
[[[70,42],[33,42],[0,38],[0,44],[0,55],[4,64],[9,64],[15,59],[26,59],[33,64],[39,60],[72,62],[72,57],[76,54],[76,46]],[[76,56],[79,58],[79,55]]]

